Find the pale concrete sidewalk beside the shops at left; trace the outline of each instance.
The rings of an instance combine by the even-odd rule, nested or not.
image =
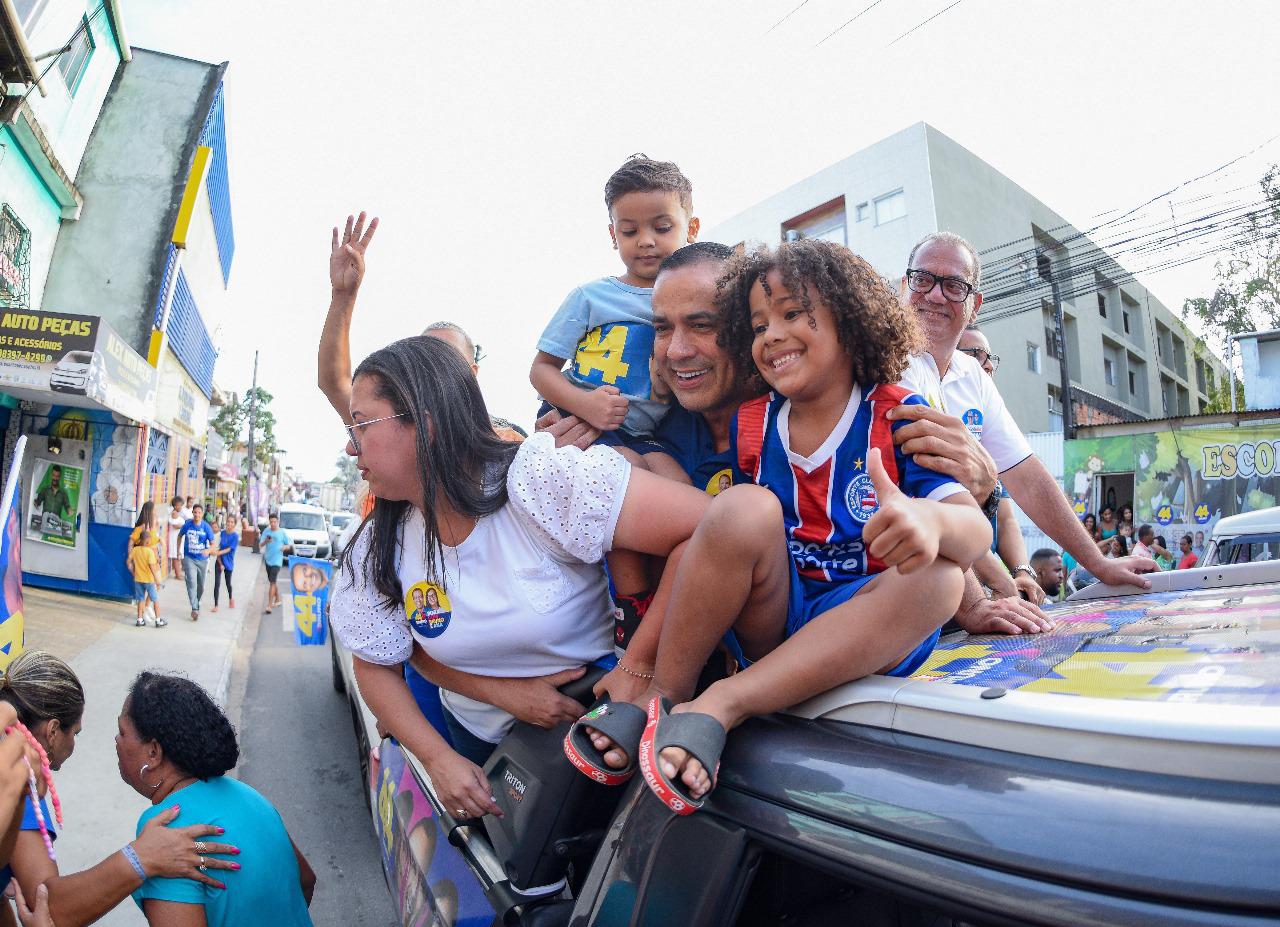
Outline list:
[[[182,579],[170,577],[160,592],[160,615],[169,626],[160,629],[136,627],[132,604],[24,590],[27,647],[68,659],[84,686],[84,727],[76,754],[56,775],[65,814],[56,844],[60,872],[79,872],[119,850],[133,839],[147,807],[120,781],[115,758],[116,717],[129,682],[142,670],[180,672],[225,705],[244,618],[265,603],[264,574],[261,556],[242,548],[236,556],[237,607],[228,608],[224,588],[221,607],[214,613],[210,568],[200,621],[191,620]],[[97,923],[123,927],[146,921],[125,901]]]

